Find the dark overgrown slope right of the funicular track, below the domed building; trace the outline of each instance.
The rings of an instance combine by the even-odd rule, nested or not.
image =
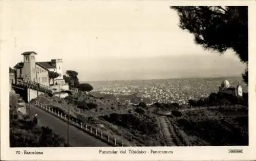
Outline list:
[[[248,145],[248,110],[186,111],[175,119],[193,145]]]

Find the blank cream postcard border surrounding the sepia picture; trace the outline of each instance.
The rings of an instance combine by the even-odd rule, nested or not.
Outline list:
[[[248,24],[249,24],[249,146],[221,146],[221,147],[111,147],[111,148],[9,148],[9,64],[6,59],[11,59],[11,54],[5,46],[9,41],[8,26],[8,9],[11,3],[20,1],[4,1],[2,3],[2,12],[0,19],[0,38],[1,38],[1,160],[253,160],[256,159],[255,152],[255,1],[111,1],[111,3],[137,3],[143,5],[145,3],[154,5],[154,3],[162,3],[166,6],[249,6]],[[35,2],[35,1],[34,1]],[[27,2],[26,2],[27,3]],[[49,1],[38,3],[53,3]],[[54,3],[103,3],[103,1],[54,1]],[[107,2],[104,2],[107,3]],[[56,5],[57,6],[57,5]],[[173,150],[173,154],[99,154],[99,149],[121,150],[121,149],[143,149],[148,151],[154,150]],[[228,149],[243,149],[243,154],[228,154]],[[42,151],[44,155],[16,155],[15,151]]]

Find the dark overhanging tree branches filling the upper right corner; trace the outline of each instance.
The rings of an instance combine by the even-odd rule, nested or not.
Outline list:
[[[232,49],[248,67],[248,7],[170,7],[178,12],[179,27],[195,37],[204,49],[224,53]],[[243,73],[248,84],[248,70]]]

